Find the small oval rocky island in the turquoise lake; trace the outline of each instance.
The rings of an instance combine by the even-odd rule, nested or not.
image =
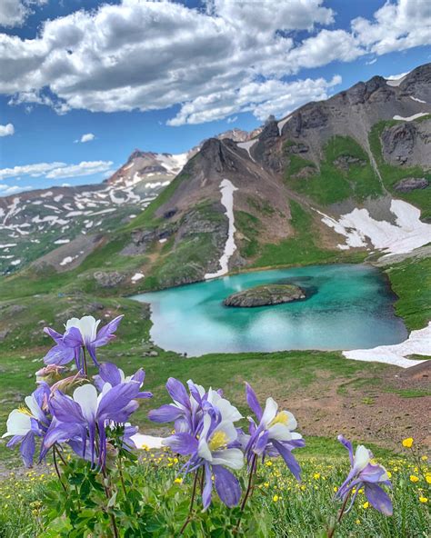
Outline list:
[[[293,284],[263,284],[226,297],[225,306],[252,308],[271,304],[292,303],[305,299],[305,292]]]

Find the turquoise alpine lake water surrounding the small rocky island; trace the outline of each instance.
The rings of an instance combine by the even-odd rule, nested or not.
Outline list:
[[[300,285],[308,298],[257,308],[224,306],[229,294],[267,283]],[[384,274],[362,264],[235,274],[133,298],[151,304],[155,344],[191,356],[348,350],[398,344],[407,337]]]

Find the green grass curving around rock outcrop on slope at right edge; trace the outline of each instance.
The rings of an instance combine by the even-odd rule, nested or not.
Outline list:
[[[420,118],[422,120],[429,119]],[[371,151],[373,152],[378,170],[382,177],[382,181],[386,188],[393,194],[396,194],[396,198],[402,198],[410,204],[414,204],[419,207],[421,211],[421,217],[423,220],[431,218],[431,188],[416,189],[410,193],[400,193],[395,190],[395,185],[405,177],[426,177],[431,181],[431,173],[425,172],[420,166],[411,166],[408,168],[395,166],[393,164],[386,163],[382,153],[381,135],[386,127],[397,125],[399,122],[396,120],[381,121],[376,125],[373,125],[369,134],[369,144]]]

